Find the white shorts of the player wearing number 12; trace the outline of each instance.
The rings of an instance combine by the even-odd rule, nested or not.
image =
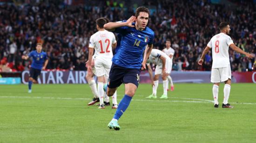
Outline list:
[[[111,58],[95,58],[94,59],[94,68],[95,75],[101,77],[103,75],[109,77],[109,71],[112,65]]]

